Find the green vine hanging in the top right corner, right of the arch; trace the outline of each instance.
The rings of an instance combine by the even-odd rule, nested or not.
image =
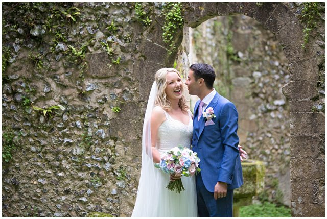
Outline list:
[[[302,8],[301,20],[305,23],[303,29],[303,44],[302,49],[306,47],[309,42],[310,33],[317,29],[317,21],[321,19],[321,13],[324,8],[320,2],[304,2]]]

